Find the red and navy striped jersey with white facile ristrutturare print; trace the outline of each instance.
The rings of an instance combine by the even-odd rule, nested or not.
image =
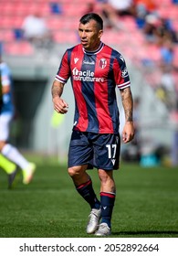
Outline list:
[[[131,85],[125,60],[120,53],[100,42],[96,51],[79,44],[68,48],[56,80],[70,78],[75,96],[74,130],[90,133],[118,133],[119,109],[116,86]]]

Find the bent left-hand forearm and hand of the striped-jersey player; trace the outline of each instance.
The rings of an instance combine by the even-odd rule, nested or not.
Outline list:
[[[59,113],[68,112],[68,103],[60,98],[63,92],[63,88],[64,83],[61,83],[58,80],[54,80],[51,88],[52,101],[54,109]]]

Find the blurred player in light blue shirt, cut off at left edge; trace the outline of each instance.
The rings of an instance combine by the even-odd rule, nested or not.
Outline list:
[[[29,184],[34,176],[36,170],[36,165],[34,163],[29,163],[26,158],[19,153],[15,146],[8,143],[10,123],[14,116],[14,104],[13,104],[13,81],[11,76],[11,71],[2,61],[0,56],[0,74],[2,83],[2,94],[3,103],[0,113],[0,153],[5,156],[8,160],[16,164],[22,169],[23,183]],[[0,158],[2,160],[3,158]],[[4,159],[5,160],[5,159]],[[4,161],[2,160],[2,161]],[[2,163],[2,166],[5,163]],[[8,187],[13,186],[13,182],[16,177],[16,170],[12,170],[9,173],[9,168],[5,168],[8,175]]]

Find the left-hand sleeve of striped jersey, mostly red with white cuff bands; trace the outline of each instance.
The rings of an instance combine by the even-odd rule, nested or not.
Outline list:
[[[56,75],[55,80],[58,80],[62,83],[66,83],[69,77],[70,77],[70,68],[69,68],[68,50],[67,50],[61,59],[60,66],[58,68],[58,73]]]

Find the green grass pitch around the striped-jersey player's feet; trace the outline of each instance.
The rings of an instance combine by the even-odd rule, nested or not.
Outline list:
[[[99,194],[97,170],[89,171]],[[178,237],[178,169],[121,164],[114,173],[117,197],[112,237]],[[7,189],[0,170],[1,238],[93,237],[85,232],[88,204],[79,197],[67,167],[37,165],[29,186]]]

